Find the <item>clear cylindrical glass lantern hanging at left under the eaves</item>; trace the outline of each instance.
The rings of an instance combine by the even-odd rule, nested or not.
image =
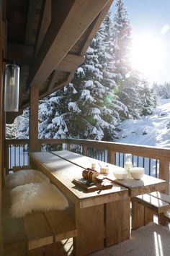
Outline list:
[[[19,66],[5,66],[4,111],[17,112],[19,107]]]

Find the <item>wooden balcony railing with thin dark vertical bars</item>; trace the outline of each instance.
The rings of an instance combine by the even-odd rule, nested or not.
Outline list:
[[[125,154],[133,155],[136,166],[145,167],[146,174],[165,179],[169,184],[170,149],[77,139],[39,139],[40,151],[71,150],[108,163],[124,166]],[[16,165],[27,165],[29,140],[6,140],[6,172]]]

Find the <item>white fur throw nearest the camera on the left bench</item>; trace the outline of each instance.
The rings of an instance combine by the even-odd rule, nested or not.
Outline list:
[[[14,218],[24,217],[33,211],[63,210],[68,207],[68,200],[53,184],[30,183],[11,190]]]

